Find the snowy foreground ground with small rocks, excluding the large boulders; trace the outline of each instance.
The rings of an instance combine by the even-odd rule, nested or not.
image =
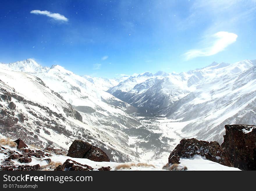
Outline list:
[[[162,170],[163,163],[116,163],[95,162],[86,158],[71,158],[69,156],[56,155],[45,150],[29,145],[28,149],[17,149],[8,145],[0,148],[0,170]],[[35,153],[33,155],[33,153]],[[20,163],[19,158],[32,154],[30,163]],[[17,157],[13,158],[12,156]],[[48,163],[47,161],[51,161]],[[190,159],[180,159],[181,166],[187,170],[239,170],[227,167],[219,163],[206,160],[201,156]]]

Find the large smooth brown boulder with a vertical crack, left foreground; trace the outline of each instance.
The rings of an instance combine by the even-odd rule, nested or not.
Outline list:
[[[89,160],[97,162],[110,161],[109,157],[106,155],[106,153],[104,153],[104,151],[82,140],[74,140],[69,147],[67,156],[73,158],[88,158]]]

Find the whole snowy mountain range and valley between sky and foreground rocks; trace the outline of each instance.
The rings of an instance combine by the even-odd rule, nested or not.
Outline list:
[[[16,106],[2,99],[7,113],[1,115],[27,119],[12,124],[13,132],[0,124],[1,132],[63,149],[74,139],[86,140],[117,162],[132,160],[134,146],[147,160],[170,154],[182,138],[221,143],[225,124],[256,123],[255,65],[214,62],[179,74],[105,79],[32,59],[0,64],[1,95],[10,94]]]

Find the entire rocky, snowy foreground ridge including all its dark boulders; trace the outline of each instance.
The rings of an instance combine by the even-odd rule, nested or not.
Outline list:
[[[36,148],[22,140],[0,140],[0,170],[255,170],[256,126],[226,125],[224,142],[182,139],[168,163],[111,162],[98,147],[74,140],[68,153],[61,149]],[[167,161],[167,157],[166,157]]]

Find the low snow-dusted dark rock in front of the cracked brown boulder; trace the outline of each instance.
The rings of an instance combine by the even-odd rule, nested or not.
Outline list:
[[[93,167],[88,165],[82,165],[74,160],[67,159],[62,165],[59,165],[54,169],[55,171],[69,171],[69,170],[79,170],[79,171],[89,171],[93,170]]]

